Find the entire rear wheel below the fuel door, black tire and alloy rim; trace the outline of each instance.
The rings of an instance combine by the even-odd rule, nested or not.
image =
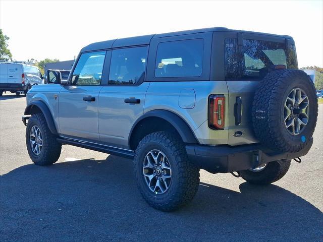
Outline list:
[[[134,172],[142,197],[162,211],[184,206],[198,189],[199,169],[188,160],[183,142],[166,132],[151,133],[140,141]]]

